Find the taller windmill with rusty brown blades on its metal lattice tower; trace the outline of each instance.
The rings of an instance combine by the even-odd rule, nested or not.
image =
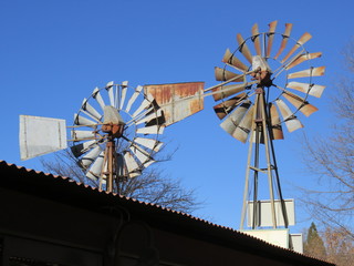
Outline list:
[[[215,90],[218,93],[214,99],[220,103],[214,109],[222,120],[220,126],[243,143],[249,140],[241,229],[247,213],[248,226],[252,229],[288,228],[291,224],[290,206],[281,192],[273,141],[284,139],[283,127],[289,132],[303,127],[298,114],[309,116],[317,111],[308,98],[320,98],[324,90],[314,79],[323,75],[325,68],[303,66],[322,55],[305,50],[304,43],[311,34],[305,32],[295,40],[291,38],[291,23],[285,24],[282,33],[275,32],[277,23],[271,22],[267,32],[259,32],[254,24],[247,39],[237,34],[237,48],[232,52],[227,49],[223,68],[215,69],[217,81],[233,79],[232,83]],[[256,72],[249,73],[250,70]],[[258,196],[261,174],[267,176],[270,196],[263,202]]]

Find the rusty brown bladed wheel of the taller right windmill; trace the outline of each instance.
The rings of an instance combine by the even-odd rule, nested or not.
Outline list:
[[[308,102],[308,98],[309,95],[321,96],[324,86],[314,84],[313,79],[314,76],[323,75],[325,68],[310,66],[303,69],[304,66],[302,65],[320,58],[322,53],[309,53],[305,50],[304,44],[311,39],[310,33],[306,32],[295,40],[291,37],[291,23],[285,24],[282,33],[275,32],[277,24],[277,21],[271,22],[268,32],[259,32],[258,24],[254,24],[251,30],[251,37],[243,39],[240,33],[237,34],[237,48],[235,51],[226,50],[221,60],[225,65],[223,68],[216,68],[216,80],[225,82],[233,76],[243,75],[241,79],[214,90],[216,93],[214,99],[217,102],[221,101],[221,104],[219,103],[215,106],[218,116],[223,113],[221,120],[232,120],[231,112],[235,112],[242,101],[251,101],[252,105],[254,105],[256,92],[260,86],[266,88],[268,109],[275,106],[272,109],[272,117],[270,120],[272,123],[275,120],[278,121],[275,124],[271,124],[278,131],[282,131],[283,124],[290,132],[301,129],[303,125],[296,116],[299,111],[306,116],[317,111],[315,106]],[[280,42],[278,49],[277,41]],[[250,84],[254,80],[258,82]],[[233,90],[230,89],[231,86],[233,86]],[[246,95],[242,95],[241,101],[230,101],[230,99],[242,93],[246,93]],[[246,113],[243,113],[244,115]],[[235,127],[231,135],[244,142],[242,134],[233,134],[238,123],[233,124]],[[248,127],[247,131],[250,133],[251,129]],[[278,136],[278,139],[280,137]]]

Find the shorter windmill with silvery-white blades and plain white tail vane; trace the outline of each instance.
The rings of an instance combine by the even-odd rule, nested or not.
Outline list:
[[[87,178],[118,193],[119,182],[140,175],[155,162],[163,145],[162,120],[162,110],[143,86],[112,81],[83,100],[72,126],[64,120],[20,115],[21,160],[70,146]]]

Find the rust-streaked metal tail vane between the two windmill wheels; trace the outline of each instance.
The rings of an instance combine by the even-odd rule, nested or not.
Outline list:
[[[144,89],[164,111],[166,126],[204,109],[204,82],[145,85]]]

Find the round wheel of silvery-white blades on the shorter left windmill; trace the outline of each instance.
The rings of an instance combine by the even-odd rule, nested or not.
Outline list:
[[[74,114],[71,151],[86,177],[115,191],[117,182],[140,175],[155,162],[163,145],[162,119],[162,110],[143,86],[110,82],[95,88]]]

